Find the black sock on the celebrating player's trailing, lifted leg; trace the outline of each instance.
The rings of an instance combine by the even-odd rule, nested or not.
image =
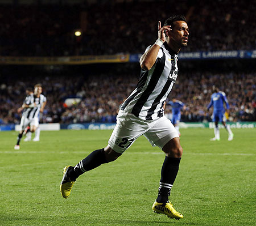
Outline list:
[[[77,163],[73,169],[68,170],[68,177],[70,180],[75,181],[81,174],[99,167],[104,163],[108,163],[105,157],[104,148],[93,151],[90,155],[85,157],[85,159],[82,159]]]

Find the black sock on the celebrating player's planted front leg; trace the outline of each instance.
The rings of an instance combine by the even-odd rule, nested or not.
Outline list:
[[[161,171],[161,180],[160,186],[158,189],[158,198],[156,199],[159,203],[168,202],[172,185],[174,184],[177,172],[179,171],[180,157],[167,157],[164,159],[162,171]]]

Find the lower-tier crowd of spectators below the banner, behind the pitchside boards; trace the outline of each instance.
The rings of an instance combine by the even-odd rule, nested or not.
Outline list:
[[[23,103],[25,89],[39,80],[24,78],[22,82],[9,80],[0,84],[0,124],[19,123],[21,115],[17,109]],[[47,76],[41,82],[47,97],[41,122],[115,122],[119,105],[137,81],[138,77],[132,74]],[[176,98],[186,105],[181,121],[211,121],[207,105],[214,84],[220,84],[220,90],[228,97],[230,121],[256,121],[256,77],[250,73],[180,74],[168,98]],[[73,99],[71,105],[65,103],[67,99]],[[170,106],[166,106],[165,113],[171,113]]]

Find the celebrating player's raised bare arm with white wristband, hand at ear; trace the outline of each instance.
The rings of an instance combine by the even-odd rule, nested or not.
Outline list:
[[[167,25],[161,28],[161,22],[158,22],[158,40],[152,45],[146,53],[141,56],[139,59],[139,63],[141,64],[141,68],[144,70],[150,70],[151,67],[155,64],[156,58],[158,56],[158,52],[160,49],[160,45],[166,41],[166,34],[164,31],[171,31],[171,26]],[[160,44],[158,44],[160,43]]]

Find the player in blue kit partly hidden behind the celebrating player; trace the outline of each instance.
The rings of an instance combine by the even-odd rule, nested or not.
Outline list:
[[[183,104],[181,101],[176,100],[176,99],[172,99],[171,101],[169,101],[167,103],[167,105],[171,105],[172,106],[172,125],[174,125],[175,129],[177,130],[177,132],[179,133],[180,136],[180,127],[179,127],[179,122],[180,122],[180,118],[181,118],[181,113],[180,110],[181,109],[186,109],[185,104]]]

